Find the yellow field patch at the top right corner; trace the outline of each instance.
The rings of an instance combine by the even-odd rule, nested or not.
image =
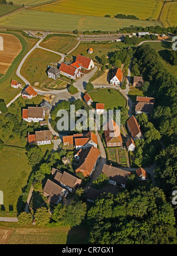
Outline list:
[[[177,2],[169,2],[164,5],[160,21],[165,27],[177,25]]]

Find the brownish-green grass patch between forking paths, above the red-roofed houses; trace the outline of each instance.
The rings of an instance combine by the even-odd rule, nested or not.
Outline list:
[[[50,50],[54,50],[55,52],[68,53],[76,46],[77,42],[77,37],[55,36],[48,39],[47,41],[42,41],[40,46]]]

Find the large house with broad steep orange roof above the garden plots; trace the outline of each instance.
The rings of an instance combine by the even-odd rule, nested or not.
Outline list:
[[[107,147],[122,146],[120,127],[113,119],[104,126],[104,137]]]

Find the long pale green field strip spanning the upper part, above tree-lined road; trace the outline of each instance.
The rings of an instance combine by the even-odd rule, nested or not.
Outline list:
[[[34,28],[37,30],[79,31],[102,30],[116,31],[130,25],[160,25],[158,21],[127,20],[105,17],[93,17],[75,14],[62,14],[56,12],[40,12],[28,9],[9,14],[0,19],[0,25],[6,27]]]

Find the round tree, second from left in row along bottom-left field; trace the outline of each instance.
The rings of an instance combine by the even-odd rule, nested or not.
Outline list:
[[[45,207],[38,208],[34,215],[35,223],[45,226],[50,222],[51,215]]]

